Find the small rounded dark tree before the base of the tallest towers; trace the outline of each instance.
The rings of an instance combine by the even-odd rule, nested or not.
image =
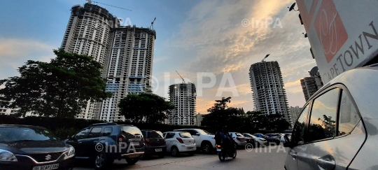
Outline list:
[[[167,118],[175,108],[164,97],[151,92],[141,94],[127,94],[118,104],[120,115],[132,122],[160,123]]]

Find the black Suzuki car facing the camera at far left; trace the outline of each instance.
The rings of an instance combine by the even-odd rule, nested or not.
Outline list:
[[[0,125],[0,169],[73,169],[75,149],[48,129]]]

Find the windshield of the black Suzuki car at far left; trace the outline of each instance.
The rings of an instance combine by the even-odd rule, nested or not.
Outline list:
[[[1,127],[0,143],[18,141],[57,141],[59,140],[47,129],[29,127]]]

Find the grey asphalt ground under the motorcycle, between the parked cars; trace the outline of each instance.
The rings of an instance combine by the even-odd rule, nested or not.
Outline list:
[[[270,150],[270,151],[269,151]],[[244,149],[237,150],[235,160],[228,158],[225,162],[218,159],[218,155],[206,155],[196,153],[195,155],[187,155],[182,153],[179,157],[167,155],[164,158],[151,156],[146,160],[139,160],[137,164],[129,165],[125,160],[116,160],[109,169],[284,169],[287,148],[282,146],[270,146],[267,148],[253,148],[249,152]],[[76,162],[75,170],[90,170],[88,162]]]

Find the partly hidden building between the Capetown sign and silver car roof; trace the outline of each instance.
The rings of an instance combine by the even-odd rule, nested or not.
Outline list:
[[[304,99],[307,101],[312,94],[315,94],[315,92],[323,87],[323,82],[319,76],[311,76],[301,79],[300,85],[302,86]]]

